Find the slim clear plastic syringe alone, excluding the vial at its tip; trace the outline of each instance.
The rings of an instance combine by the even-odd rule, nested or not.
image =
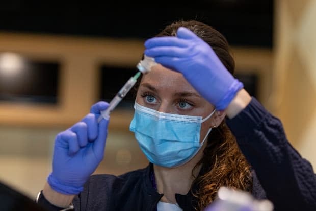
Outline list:
[[[121,102],[121,100],[126,96],[128,91],[135,85],[138,77],[141,75],[141,72],[137,72],[135,76],[131,77],[121,88],[121,90],[116,94],[116,96],[111,100],[109,107],[106,110],[101,111],[101,115],[98,118],[98,122],[102,120],[102,118],[109,120],[110,112]]]

